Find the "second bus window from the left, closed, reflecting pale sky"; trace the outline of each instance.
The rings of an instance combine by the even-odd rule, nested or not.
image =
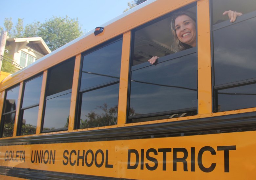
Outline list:
[[[35,134],[43,75],[24,83],[18,135]]]

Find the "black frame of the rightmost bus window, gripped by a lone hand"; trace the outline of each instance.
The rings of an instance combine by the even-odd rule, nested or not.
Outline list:
[[[219,90],[225,90],[229,88],[235,88],[235,87],[240,87],[240,86],[245,86],[245,85],[250,85],[250,84],[255,84],[256,83],[256,78],[251,78],[247,80],[241,80],[241,81],[235,81],[231,83],[226,83],[226,84],[221,84],[221,85],[215,85],[215,70],[214,70],[214,42],[213,42],[213,32],[216,30],[219,30],[221,28],[225,28],[234,24],[241,23],[243,21],[246,21],[251,18],[256,17],[256,10],[243,14],[242,16],[237,16],[237,19],[235,22],[230,23],[228,20],[223,21],[217,24],[213,24],[213,0],[210,1],[210,39],[211,39],[211,66],[212,66],[212,112],[221,112],[218,111],[218,91]],[[247,107],[246,107],[247,108]],[[236,109],[233,109],[236,110]]]

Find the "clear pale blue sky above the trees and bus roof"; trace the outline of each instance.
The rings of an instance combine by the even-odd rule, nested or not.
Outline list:
[[[12,18],[15,26],[18,18],[23,18],[24,26],[35,21],[41,23],[53,16],[78,18],[84,32],[122,14],[132,0],[5,0],[1,2],[0,26],[4,19]]]

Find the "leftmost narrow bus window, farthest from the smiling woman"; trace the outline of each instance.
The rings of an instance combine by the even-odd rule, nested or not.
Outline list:
[[[15,88],[6,91],[4,111],[1,120],[1,137],[3,138],[13,136],[19,88],[20,86],[16,86]]]

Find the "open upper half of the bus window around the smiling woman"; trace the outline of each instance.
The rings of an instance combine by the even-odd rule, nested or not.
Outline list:
[[[195,6],[179,9],[176,13],[179,11],[187,11],[189,16],[193,19],[193,22],[196,24]],[[148,60],[154,56],[164,57],[177,52],[175,41],[178,40],[173,37],[176,35],[173,34],[171,30],[172,15],[173,13],[170,13],[149,23],[147,26],[144,25],[134,31],[133,66],[148,62]],[[191,32],[191,34],[192,33],[193,32]],[[196,28],[194,35],[196,38]],[[187,44],[183,45],[185,46],[185,49],[191,47]]]

